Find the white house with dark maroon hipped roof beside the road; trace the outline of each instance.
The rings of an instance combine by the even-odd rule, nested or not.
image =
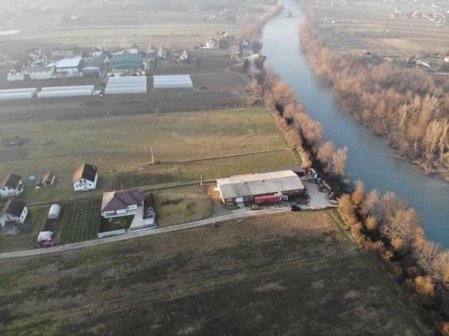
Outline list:
[[[133,216],[144,207],[145,193],[137,189],[111,191],[103,194],[102,217]]]

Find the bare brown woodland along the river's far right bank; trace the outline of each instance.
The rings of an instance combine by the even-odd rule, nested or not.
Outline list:
[[[309,17],[301,46],[317,73],[327,78],[343,107],[385,136],[401,158],[427,174],[449,174],[449,93],[421,69],[401,69],[374,57],[336,55],[314,32]]]

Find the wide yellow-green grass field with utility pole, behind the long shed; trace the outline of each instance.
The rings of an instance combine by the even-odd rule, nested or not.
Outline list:
[[[0,151],[0,176],[14,172],[40,179],[54,172],[51,188],[24,181],[34,202],[100,196],[102,190],[219,178],[297,163],[263,108],[160,113],[0,125],[2,136],[20,134],[19,148]],[[157,165],[151,165],[151,148]],[[88,162],[99,167],[97,190],[74,193],[71,175]]]

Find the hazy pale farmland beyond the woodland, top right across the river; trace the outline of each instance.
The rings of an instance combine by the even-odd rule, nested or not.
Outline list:
[[[403,17],[412,12],[443,13],[443,1],[300,1],[315,13],[319,36],[334,50],[366,52],[406,59],[427,53],[445,55],[449,49],[449,24]],[[439,5],[434,8],[433,4]],[[396,15],[394,15],[396,10]],[[394,17],[392,17],[392,15]],[[442,59],[438,62],[443,62]]]

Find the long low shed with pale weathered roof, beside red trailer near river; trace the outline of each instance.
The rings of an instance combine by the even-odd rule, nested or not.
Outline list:
[[[223,203],[246,202],[258,195],[299,195],[305,190],[298,175],[291,170],[261,174],[235,175],[216,180]]]

